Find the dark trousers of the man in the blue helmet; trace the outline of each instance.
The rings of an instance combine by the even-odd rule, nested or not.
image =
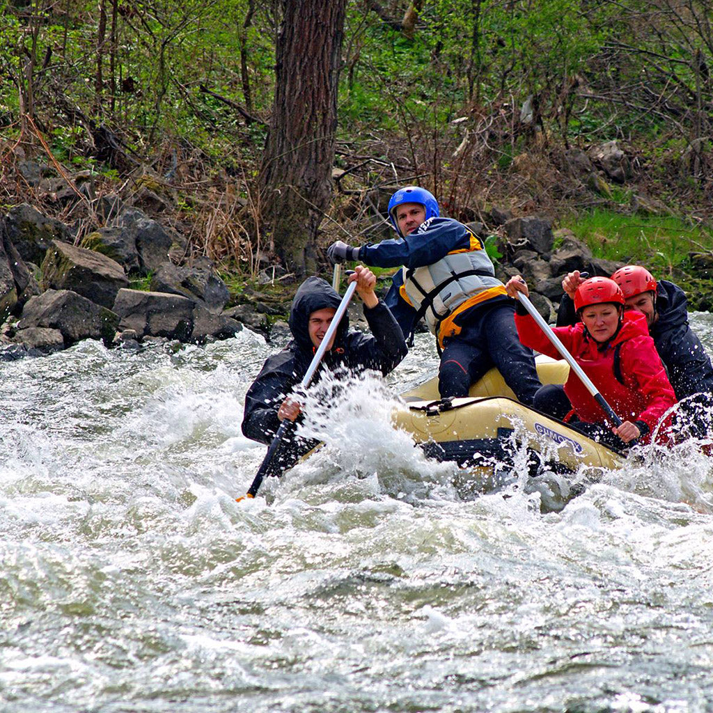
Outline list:
[[[532,349],[518,337],[509,304],[479,309],[456,337],[445,340],[438,371],[441,398],[468,396],[471,384],[496,366],[521,403],[530,406],[540,379]]]

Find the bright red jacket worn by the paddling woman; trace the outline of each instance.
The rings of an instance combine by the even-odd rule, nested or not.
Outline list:
[[[555,359],[561,358],[529,314],[515,314],[515,324],[520,341],[527,347]],[[651,432],[677,401],[654,340],[649,336],[644,315],[635,311],[625,312],[618,334],[601,351],[601,345],[585,332],[582,322],[573,327],[554,327],[553,332],[622,421],[644,421],[649,427],[649,433],[641,441],[649,442]],[[614,369],[617,345],[620,345],[618,352],[622,381],[617,379]],[[604,411],[574,371],[570,371],[565,393],[581,421],[607,421]]]

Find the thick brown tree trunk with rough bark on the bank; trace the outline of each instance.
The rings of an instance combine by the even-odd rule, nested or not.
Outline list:
[[[317,228],[332,197],[345,0],[286,0],[275,101],[262,158],[262,216],[299,277],[314,272]]]

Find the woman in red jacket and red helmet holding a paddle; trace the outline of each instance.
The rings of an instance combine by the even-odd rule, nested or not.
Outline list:
[[[506,284],[511,297],[528,294],[522,277]],[[581,322],[571,327],[554,327],[560,341],[593,381],[615,414],[620,426],[607,423],[604,411],[578,376],[570,371],[564,386],[548,384],[537,394],[533,406],[595,440],[615,448],[640,440],[648,443],[652,431],[676,396],[661,359],[649,336],[646,318],[624,311],[624,294],[608,277],[586,280],[575,293],[575,309]],[[560,358],[555,347],[518,301],[515,325],[520,341],[538,352]],[[610,432],[617,436],[612,438]]]

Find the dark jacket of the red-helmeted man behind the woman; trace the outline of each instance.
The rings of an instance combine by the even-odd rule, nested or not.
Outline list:
[[[659,280],[656,312],[659,318],[649,331],[676,398],[681,401],[692,394],[713,393],[713,366],[701,340],[689,327],[684,291],[673,282]],[[557,326],[575,322],[578,317],[574,302],[565,294],[557,313]]]

